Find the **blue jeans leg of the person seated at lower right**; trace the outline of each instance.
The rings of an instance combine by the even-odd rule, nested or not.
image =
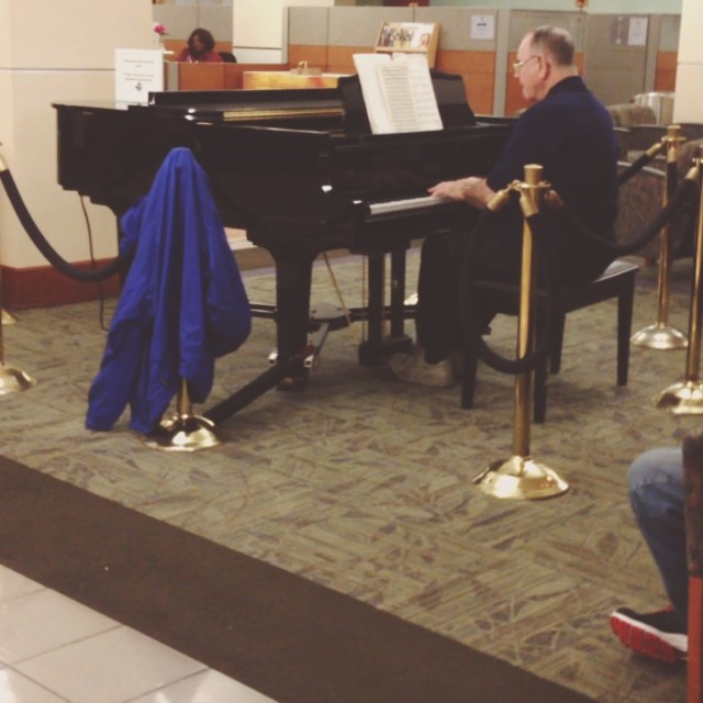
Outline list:
[[[685,629],[689,571],[681,449],[651,449],[637,457],[629,468],[628,486],[635,520]]]

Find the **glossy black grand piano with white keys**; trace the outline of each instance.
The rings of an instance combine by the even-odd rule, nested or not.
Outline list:
[[[488,172],[511,130],[510,121],[476,120],[460,77],[433,71],[433,86],[444,129],[386,135],[370,134],[356,77],[336,89],[159,92],[146,105],[55,103],[58,182],[119,217],[147,192],[169,149],[189,147],[225,225],[246,230],[274,257],[269,312],[278,359],[305,348],[317,324],[310,317],[314,259],[348,249],[369,257],[359,359],[378,365],[409,343],[403,301],[412,239],[454,226],[466,213],[428,198],[427,187]],[[305,377],[301,366],[302,384]]]

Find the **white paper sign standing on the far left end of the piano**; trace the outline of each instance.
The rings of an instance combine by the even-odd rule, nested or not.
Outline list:
[[[149,91],[164,90],[164,52],[146,48],[114,49],[114,99],[146,104]]]

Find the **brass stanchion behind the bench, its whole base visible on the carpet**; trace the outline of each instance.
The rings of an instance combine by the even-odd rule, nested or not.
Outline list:
[[[678,124],[669,125],[667,136],[661,146],[667,148],[667,170],[665,177],[663,204],[669,202],[676,191],[676,165],[683,137]],[[683,332],[669,324],[669,299],[671,287],[671,242],[669,224],[661,231],[661,246],[659,248],[659,278],[657,282],[658,305],[657,322],[643,327],[632,336],[632,343],[650,349],[683,349],[688,338]]]

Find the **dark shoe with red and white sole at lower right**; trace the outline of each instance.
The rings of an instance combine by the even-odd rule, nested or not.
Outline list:
[[[671,606],[655,613],[618,607],[611,615],[611,627],[623,645],[638,655],[668,663],[687,657],[689,637]]]

